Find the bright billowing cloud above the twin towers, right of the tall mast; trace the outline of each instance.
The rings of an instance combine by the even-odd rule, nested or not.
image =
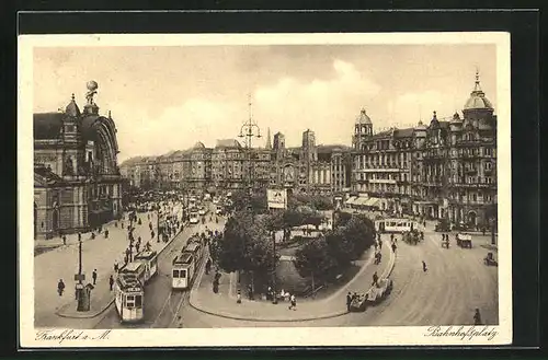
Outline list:
[[[299,81],[284,77],[273,85],[259,86],[254,93],[256,117],[284,132],[289,144],[297,144],[307,128],[313,129],[321,142],[321,133],[329,133],[342,121],[349,135],[342,132],[335,141],[349,142],[352,121],[380,86],[351,62],[338,59],[332,68],[334,76],[330,79]]]

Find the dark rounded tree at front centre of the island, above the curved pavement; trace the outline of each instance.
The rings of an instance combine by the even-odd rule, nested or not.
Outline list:
[[[312,292],[316,289],[316,280],[326,280],[338,266],[323,237],[315,239],[299,248],[295,253],[294,264],[301,277],[311,277]]]

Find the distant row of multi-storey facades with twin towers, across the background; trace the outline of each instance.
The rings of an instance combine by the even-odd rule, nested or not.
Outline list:
[[[300,148],[286,148],[281,132],[272,142],[269,131],[265,148],[247,149],[237,140],[222,139],[215,148],[198,142],[161,156],[129,159],[121,166],[132,176],[130,183],[142,188],[214,193],[279,187],[329,196],[350,186],[350,148],[317,146],[313,131],[307,130]]]

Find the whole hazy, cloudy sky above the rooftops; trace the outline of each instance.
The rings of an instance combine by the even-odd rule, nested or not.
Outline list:
[[[34,112],[57,112],[85,83],[99,83],[100,114],[111,111],[118,161],[236,138],[251,114],[263,138],[283,132],[299,146],[351,144],[365,108],[374,129],[429,123],[461,112],[479,71],[496,112],[495,45],[275,45],[37,47]]]

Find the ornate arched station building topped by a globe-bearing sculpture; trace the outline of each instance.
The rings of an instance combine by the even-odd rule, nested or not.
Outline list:
[[[65,111],[34,114],[34,234],[49,239],[85,232],[122,214],[116,127],[99,115],[98,84],[88,83],[80,111],[75,95]]]

